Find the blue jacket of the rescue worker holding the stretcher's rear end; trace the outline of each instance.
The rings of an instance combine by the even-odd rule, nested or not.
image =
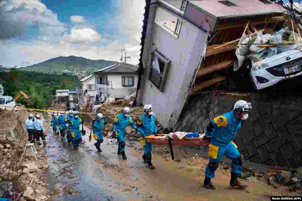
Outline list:
[[[155,119],[156,117],[154,114],[150,118],[147,116],[147,114],[144,114],[141,115],[137,120],[137,125],[139,126],[137,130],[140,132],[142,137],[157,133]]]

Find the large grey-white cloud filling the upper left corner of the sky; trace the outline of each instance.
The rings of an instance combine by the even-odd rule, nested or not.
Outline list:
[[[59,35],[66,29],[58,17],[39,0],[6,0],[0,4],[0,39],[22,36],[32,25],[39,24],[43,34]],[[43,31],[43,29],[47,31]],[[51,32],[50,32],[51,31]]]

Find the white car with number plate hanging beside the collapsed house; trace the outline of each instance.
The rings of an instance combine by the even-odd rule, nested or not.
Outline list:
[[[290,50],[252,63],[250,76],[256,90],[302,75],[302,52]]]

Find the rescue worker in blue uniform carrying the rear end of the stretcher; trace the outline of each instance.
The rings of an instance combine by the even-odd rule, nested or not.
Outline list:
[[[144,115],[141,115],[137,120],[138,125],[138,131],[140,132],[141,137],[146,137],[149,135],[157,135],[157,127],[155,124],[156,117],[153,114],[153,107],[152,105],[147,105],[146,109],[144,109],[146,112]],[[144,163],[148,163],[148,168],[151,170],[155,169],[155,167],[152,165],[152,144],[147,142],[145,140],[145,146],[144,146],[144,155],[143,160]]]

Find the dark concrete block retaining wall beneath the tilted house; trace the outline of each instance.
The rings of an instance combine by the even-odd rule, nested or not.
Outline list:
[[[302,166],[302,96],[250,93],[252,113],[235,143],[245,160],[290,168]],[[216,116],[230,111],[238,100],[213,93],[189,97],[173,131],[204,132]],[[300,93],[301,95],[301,93]]]

